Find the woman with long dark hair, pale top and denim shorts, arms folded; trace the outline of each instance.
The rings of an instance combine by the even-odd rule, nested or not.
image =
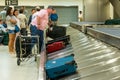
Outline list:
[[[17,21],[15,20],[15,16],[13,15],[13,9],[11,7],[8,7],[7,13],[6,13],[6,23],[7,23],[7,28],[8,28],[8,33],[9,33],[9,53],[10,54],[15,54],[14,53],[14,41],[15,41],[15,25]]]

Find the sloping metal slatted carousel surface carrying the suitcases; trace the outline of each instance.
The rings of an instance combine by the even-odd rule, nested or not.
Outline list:
[[[106,31],[108,29],[91,29],[92,32],[97,30],[98,33],[106,32],[106,34],[109,34]],[[87,30],[87,33],[89,31]],[[74,58],[78,65],[77,72],[62,76],[57,80],[120,80],[120,50],[111,46],[111,44],[106,44],[96,36],[90,35],[90,32],[84,34],[77,29],[68,27],[67,34],[70,35],[71,44],[66,49],[58,51],[59,54],[54,52],[47,56],[47,59],[55,59],[69,54],[75,55]],[[119,34],[116,34],[116,36],[118,38]],[[46,80],[46,75],[44,74],[44,79],[39,80]]]

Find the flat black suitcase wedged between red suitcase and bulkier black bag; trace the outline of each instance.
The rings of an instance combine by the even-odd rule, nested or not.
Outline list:
[[[58,41],[63,41],[65,43],[65,45],[68,45],[70,43],[70,35],[55,38],[54,40],[50,40],[50,41],[47,42],[46,45],[52,44],[52,43],[58,42]]]

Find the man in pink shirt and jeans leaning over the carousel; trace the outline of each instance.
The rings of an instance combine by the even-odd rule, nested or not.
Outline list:
[[[38,35],[39,38],[39,51],[41,51],[43,40],[44,40],[44,30],[49,21],[49,15],[52,13],[53,8],[49,6],[47,9],[41,9],[37,16],[32,20],[30,31],[32,35]]]

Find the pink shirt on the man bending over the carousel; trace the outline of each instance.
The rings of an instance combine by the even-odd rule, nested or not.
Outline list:
[[[40,26],[37,25],[37,17],[35,17],[31,24],[35,25],[40,30],[45,30],[47,24],[48,24],[48,12],[46,9],[42,9],[37,14],[38,17],[40,17]]]

